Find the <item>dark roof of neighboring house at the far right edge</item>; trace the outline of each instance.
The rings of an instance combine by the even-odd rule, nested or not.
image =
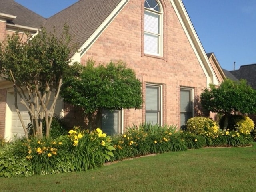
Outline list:
[[[248,84],[256,89],[256,64],[242,65],[238,70],[230,71],[237,79],[246,79]]]

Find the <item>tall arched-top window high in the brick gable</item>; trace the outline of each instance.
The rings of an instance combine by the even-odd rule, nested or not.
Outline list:
[[[163,11],[156,0],[144,2],[144,53],[163,56]]]

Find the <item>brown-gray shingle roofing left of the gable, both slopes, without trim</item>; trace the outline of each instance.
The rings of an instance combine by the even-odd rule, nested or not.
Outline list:
[[[14,24],[52,30],[62,34],[64,24],[69,26],[69,32],[74,37],[72,44],[80,48],[95,32],[102,22],[110,15],[121,0],[79,0],[54,16],[45,19],[28,10],[14,0],[0,0],[0,12],[17,16]]]

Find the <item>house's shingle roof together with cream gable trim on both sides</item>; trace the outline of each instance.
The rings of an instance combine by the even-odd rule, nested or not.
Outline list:
[[[47,30],[52,30],[52,27],[55,26],[57,36],[62,33],[64,24],[66,23],[69,26],[70,34],[74,36],[71,44],[77,44],[78,51],[80,51],[74,53],[71,59],[73,61],[80,61],[82,55],[97,40],[104,29],[129,1],[130,0],[79,0],[47,20],[27,8],[24,8],[20,4],[17,4],[13,0],[1,0],[0,12],[1,10],[5,10],[4,13],[6,14],[16,15],[17,18],[14,19],[13,22],[20,25],[40,27],[41,24],[44,24]],[[196,34],[182,0],[170,0],[170,3],[207,77],[206,86],[208,86],[209,83],[218,84],[219,81],[216,73]]]

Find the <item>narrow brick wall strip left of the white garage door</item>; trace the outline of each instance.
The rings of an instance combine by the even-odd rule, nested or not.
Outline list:
[[[0,137],[4,136],[6,89],[0,89]]]

